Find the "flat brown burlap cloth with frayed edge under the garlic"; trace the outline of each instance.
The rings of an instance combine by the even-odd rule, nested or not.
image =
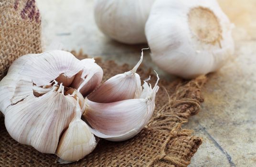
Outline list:
[[[85,58],[83,54],[76,54]],[[103,81],[129,70],[128,65],[118,66],[113,61],[97,63],[104,70]],[[150,71],[138,70],[141,79],[149,77]],[[156,76],[151,75],[152,84]],[[192,81],[177,79],[172,82],[160,80],[156,97],[156,109],[147,127],[137,136],[124,142],[100,139],[96,149],[85,158],[72,164],[57,163],[58,157],[42,154],[31,146],[21,145],[9,136],[0,118],[0,166],[4,167],[186,167],[202,144],[191,130],[181,129],[181,122],[198,112],[203,98],[200,89],[206,81],[199,77]]]

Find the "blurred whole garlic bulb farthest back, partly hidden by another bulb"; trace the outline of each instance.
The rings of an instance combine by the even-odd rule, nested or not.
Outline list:
[[[146,43],[145,23],[155,0],[96,0],[98,28],[118,42]]]

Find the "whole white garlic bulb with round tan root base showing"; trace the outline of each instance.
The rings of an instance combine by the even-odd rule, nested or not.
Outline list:
[[[216,0],[157,0],[145,33],[160,68],[193,78],[218,70],[234,53],[232,26]]]

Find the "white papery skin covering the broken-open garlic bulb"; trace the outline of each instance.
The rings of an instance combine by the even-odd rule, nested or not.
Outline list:
[[[52,85],[53,80],[62,74],[70,81],[83,71],[84,86],[95,73],[99,76],[95,83],[99,83],[103,75],[98,75],[100,67],[94,60],[88,61],[79,61],[73,54],[58,50],[28,54],[14,61],[0,82],[0,111],[11,137],[42,153],[54,154],[60,135],[75,116],[77,102],[64,95],[62,83]],[[41,96],[35,96],[33,91]]]

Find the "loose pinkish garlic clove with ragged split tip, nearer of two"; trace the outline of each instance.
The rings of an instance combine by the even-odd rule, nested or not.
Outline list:
[[[85,100],[84,117],[92,132],[110,141],[123,141],[137,135],[148,123],[155,109],[158,84],[152,89],[147,83],[142,91],[145,98],[122,100],[113,103],[95,103]]]

